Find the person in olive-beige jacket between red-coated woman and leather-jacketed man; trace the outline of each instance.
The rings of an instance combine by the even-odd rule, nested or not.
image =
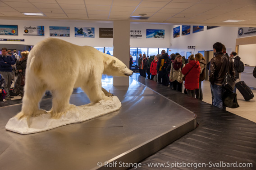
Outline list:
[[[201,53],[197,53],[195,55],[196,61],[199,61],[200,64],[200,76],[199,76],[199,89],[196,89],[196,98],[199,100],[203,100],[203,92],[202,92],[202,81],[206,78],[206,59],[203,57]]]

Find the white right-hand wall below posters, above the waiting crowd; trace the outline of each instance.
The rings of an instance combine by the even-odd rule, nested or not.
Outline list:
[[[198,51],[213,50],[212,45],[216,42],[220,42],[227,48],[228,54],[231,51],[235,51],[236,39],[238,38],[238,27],[216,27],[210,30],[206,29],[204,26],[204,31],[192,33],[193,26],[191,25],[191,32],[189,35],[181,35],[182,26],[180,26],[180,37],[173,38],[173,28],[177,27],[171,26],[170,28],[170,47],[171,52],[192,52],[192,54],[198,53]],[[196,46],[195,49],[188,49],[187,46]],[[186,56],[185,56],[186,57]]]

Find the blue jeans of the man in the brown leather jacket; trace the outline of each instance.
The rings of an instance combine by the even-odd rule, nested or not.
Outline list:
[[[225,106],[223,106],[223,102],[222,102],[222,96],[223,96],[223,92],[224,92],[224,89],[222,88],[222,86],[220,85],[217,85],[217,84],[210,84],[210,87],[212,89],[212,92],[213,92],[213,96],[214,96],[214,99],[213,99],[213,105],[214,106],[217,106],[218,108],[220,109],[226,109]]]

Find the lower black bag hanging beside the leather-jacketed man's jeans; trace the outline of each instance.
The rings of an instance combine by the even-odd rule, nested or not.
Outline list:
[[[222,96],[223,105],[228,108],[238,108],[237,94],[225,91]]]

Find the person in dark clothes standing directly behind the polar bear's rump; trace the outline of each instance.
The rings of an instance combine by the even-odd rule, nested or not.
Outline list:
[[[14,84],[14,93],[23,98],[24,85],[25,85],[25,73],[27,68],[27,56],[28,51],[21,52],[21,59],[16,61],[16,69],[18,70],[18,78]]]

